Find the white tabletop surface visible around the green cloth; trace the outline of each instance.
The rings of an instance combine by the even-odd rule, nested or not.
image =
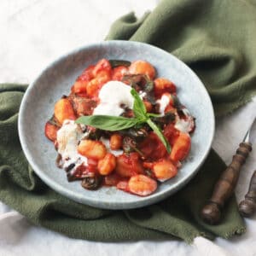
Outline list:
[[[131,10],[143,15],[157,0],[1,0],[0,82],[29,83],[50,61],[84,44],[102,40],[110,24]],[[217,120],[213,143],[228,164],[256,110],[256,98]],[[256,139],[254,140],[254,144]],[[256,151],[244,166],[236,188],[238,201],[255,170]],[[246,220],[247,233],[212,243],[183,241],[102,243],[73,240],[28,224],[0,202],[0,256],[5,255],[256,255],[256,217]],[[222,253],[222,254],[221,254]]]

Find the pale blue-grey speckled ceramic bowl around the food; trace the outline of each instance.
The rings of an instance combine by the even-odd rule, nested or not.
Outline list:
[[[44,124],[55,102],[67,95],[84,67],[106,59],[145,60],[156,67],[157,76],[177,85],[177,96],[196,118],[189,157],[176,177],[161,183],[153,195],[139,197],[115,188],[83,189],[79,182],[68,183],[66,173],[55,166],[56,151],[44,137]],[[20,106],[19,133],[22,148],[34,171],[52,189],[74,201],[94,207],[127,209],[143,207],[164,199],[195,175],[212,144],[214,115],[207,90],[189,67],[173,55],[148,44],[107,41],[92,44],[61,57],[47,67],[26,90]]]

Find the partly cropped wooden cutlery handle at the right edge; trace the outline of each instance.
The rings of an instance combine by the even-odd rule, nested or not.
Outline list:
[[[239,212],[242,216],[252,216],[256,210],[256,171],[253,172],[251,182],[245,200],[239,204]]]

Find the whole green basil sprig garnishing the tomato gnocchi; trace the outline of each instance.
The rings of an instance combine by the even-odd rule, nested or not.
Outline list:
[[[91,125],[93,127],[106,130],[106,131],[120,131],[127,128],[131,128],[136,125],[142,125],[143,123],[147,123],[150,128],[154,131],[154,133],[160,138],[160,141],[166,147],[167,152],[171,153],[171,146],[166,140],[166,137],[160,130],[160,128],[154,124],[150,117],[160,117],[157,113],[147,113],[145,105],[137,94],[137,91],[133,88],[131,89],[131,95],[134,98],[133,103],[133,113],[135,118],[125,118],[121,116],[111,116],[111,115],[89,115],[82,116],[76,120],[77,124],[83,125]]]

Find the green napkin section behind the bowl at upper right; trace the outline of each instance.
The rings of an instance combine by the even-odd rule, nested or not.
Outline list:
[[[141,20],[117,20],[107,39],[145,42],[191,67],[206,85],[217,116],[256,95],[256,2],[165,0]]]

